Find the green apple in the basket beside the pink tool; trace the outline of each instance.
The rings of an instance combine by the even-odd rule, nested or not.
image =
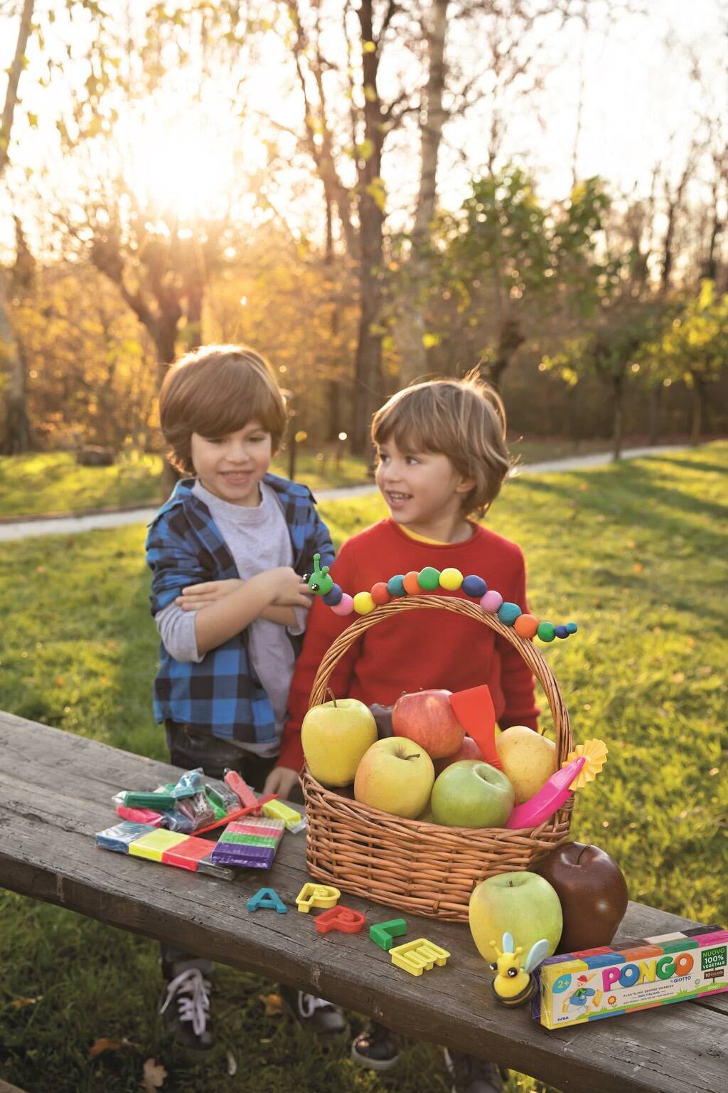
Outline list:
[[[432,814],[447,827],[502,827],[513,811],[513,786],[502,771],[464,759],[439,774]]]

